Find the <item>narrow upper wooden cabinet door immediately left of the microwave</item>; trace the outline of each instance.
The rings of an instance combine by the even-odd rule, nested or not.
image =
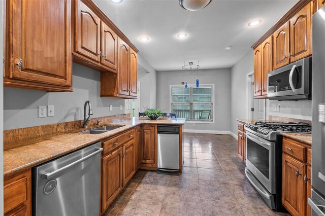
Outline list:
[[[268,73],[273,70],[272,35],[262,43],[262,95],[268,95]]]

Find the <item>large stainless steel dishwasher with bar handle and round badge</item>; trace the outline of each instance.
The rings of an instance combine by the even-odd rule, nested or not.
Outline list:
[[[101,142],[32,168],[33,215],[100,214]]]

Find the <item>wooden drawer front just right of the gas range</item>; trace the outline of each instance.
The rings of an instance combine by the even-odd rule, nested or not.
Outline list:
[[[300,145],[299,142],[283,138],[282,151],[286,154],[306,162],[306,150],[307,148]]]

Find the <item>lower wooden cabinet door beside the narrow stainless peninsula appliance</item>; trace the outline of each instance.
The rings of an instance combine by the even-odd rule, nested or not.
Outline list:
[[[143,156],[142,164],[146,164],[150,167],[157,166],[157,142],[156,142],[156,130],[155,126],[143,126],[142,127],[142,145],[143,145]]]

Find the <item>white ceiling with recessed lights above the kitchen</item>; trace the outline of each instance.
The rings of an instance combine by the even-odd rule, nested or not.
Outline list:
[[[200,61],[200,69],[229,68],[241,59],[298,0],[213,0],[196,12],[178,0],[93,0],[158,71],[181,70],[183,62]],[[257,26],[247,23],[262,19]],[[187,33],[180,40],[176,34]],[[140,37],[147,36],[148,42]],[[232,46],[230,51],[224,48]]]

